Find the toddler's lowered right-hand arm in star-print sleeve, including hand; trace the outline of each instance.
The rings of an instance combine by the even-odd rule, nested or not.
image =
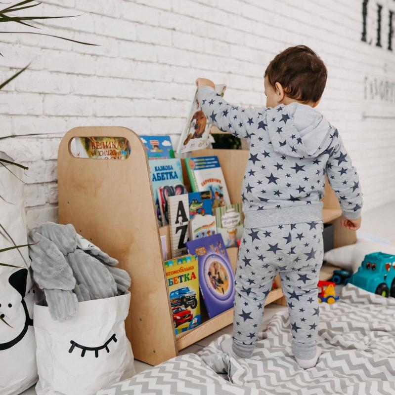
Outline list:
[[[343,211],[341,225],[356,231],[361,226],[362,191],[358,173],[337,130],[333,133],[328,150],[326,172]]]

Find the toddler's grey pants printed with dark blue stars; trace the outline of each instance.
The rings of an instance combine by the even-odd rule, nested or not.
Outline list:
[[[294,356],[315,356],[322,230],[322,221],[244,229],[235,279],[232,348],[237,356],[252,355],[264,302],[278,272],[288,303]]]

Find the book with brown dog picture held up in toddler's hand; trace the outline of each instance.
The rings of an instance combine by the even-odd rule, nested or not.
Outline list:
[[[226,85],[216,85],[216,92],[223,97]],[[179,154],[195,150],[202,150],[210,144],[210,118],[207,118],[197,98],[197,89],[192,100],[191,109],[178,144]]]

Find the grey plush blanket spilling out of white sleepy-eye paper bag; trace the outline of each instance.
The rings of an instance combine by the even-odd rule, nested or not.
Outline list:
[[[33,278],[44,291],[52,318],[77,314],[78,302],[124,294],[129,274],[118,261],[78,235],[73,225],[46,222],[29,232]]]

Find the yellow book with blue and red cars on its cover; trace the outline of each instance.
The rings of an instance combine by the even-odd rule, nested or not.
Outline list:
[[[176,334],[196,328],[201,323],[197,256],[171,259],[164,265]]]

